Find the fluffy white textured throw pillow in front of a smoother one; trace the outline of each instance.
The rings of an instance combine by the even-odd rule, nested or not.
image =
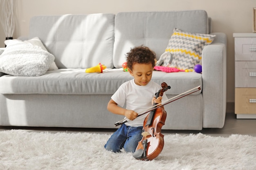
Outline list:
[[[0,55],[0,72],[14,76],[44,75],[54,58],[39,46],[25,42],[8,44]]]

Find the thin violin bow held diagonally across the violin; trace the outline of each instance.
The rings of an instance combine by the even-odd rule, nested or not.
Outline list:
[[[190,94],[195,93],[195,92],[200,91],[200,90],[201,90],[201,86],[197,86],[197,87],[195,87],[195,88],[192,88],[192,89],[190,89],[189,91],[186,91],[186,92],[184,92],[184,93],[181,93],[180,95],[174,96],[174,97],[172,97],[171,99],[168,99],[168,100],[166,100],[166,101],[164,101],[164,102],[161,102],[161,103],[159,103],[159,104],[156,104],[155,106],[151,106],[151,107],[149,107],[149,108],[147,108],[147,109],[145,109],[145,110],[139,112],[137,117],[139,117],[139,116],[141,116],[141,115],[144,115],[144,114],[146,114],[146,113],[148,113],[148,112],[150,112],[150,111],[152,111],[152,110],[155,110],[155,109],[157,109],[157,108],[159,108],[159,107],[161,107],[161,106],[164,106],[164,105],[166,105],[166,104],[169,104],[169,103],[171,103],[171,102],[174,102],[174,101],[177,100],[177,99],[180,99],[180,98],[182,98],[182,97],[185,97],[185,96],[187,96],[187,95],[190,95]],[[149,110],[149,109],[150,109],[150,110]],[[126,122],[128,122],[128,121],[130,121],[130,119],[123,119],[123,120],[117,121],[117,122],[115,123],[114,127],[119,126],[119,125],[121,125],[121,124],[124,124],[124,123],[126,123]]]

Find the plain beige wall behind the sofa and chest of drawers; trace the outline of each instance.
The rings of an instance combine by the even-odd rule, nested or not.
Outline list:
[[[15,0],[14,38],[27,36],[29,19],[36,15],[118,13],[204,9],[212,18],[213,32],[227,34],[227,102],[234,102],[233,33],[252,33],[256,0]],[[171,31],[171,30],[170,30]],[[0,28],[0,47],[5,39]]]

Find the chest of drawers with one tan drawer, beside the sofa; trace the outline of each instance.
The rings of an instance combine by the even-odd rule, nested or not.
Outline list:
[[[256,119],[256,33],[234,33],[235,113],[237,119]]]

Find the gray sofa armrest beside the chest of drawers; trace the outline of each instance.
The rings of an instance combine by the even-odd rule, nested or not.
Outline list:
[[[203,128],[222,128],[226,116],[227,38],[216,35],[202,52]]]

